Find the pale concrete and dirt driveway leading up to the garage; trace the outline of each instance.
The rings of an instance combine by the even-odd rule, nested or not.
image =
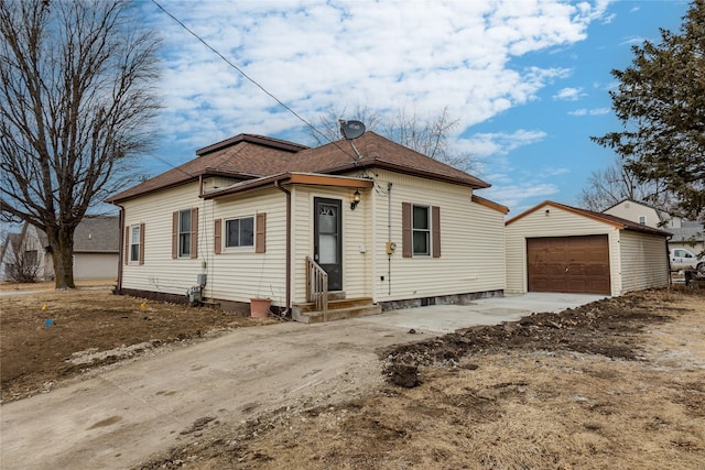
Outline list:
[[[2,469],[122,469],[189,439],[203,418],[239,423],[354,398],[382,378],[376,350],[604,296],[527,294],[322,325],[243,328],[0,407]],[[413,328],[417,335],[410,335]]]

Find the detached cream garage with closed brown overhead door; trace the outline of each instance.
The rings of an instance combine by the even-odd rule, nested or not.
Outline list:
[[[670,233],[545,201],[506,222],[507,292],[621,295],[669,285]]]

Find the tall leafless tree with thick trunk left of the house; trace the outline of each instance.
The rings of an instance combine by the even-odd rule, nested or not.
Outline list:
[[[130,183],[159,103],[160,41],[128,1],[0,0],[0,203],[43,230],[73,288],[86,211]]]

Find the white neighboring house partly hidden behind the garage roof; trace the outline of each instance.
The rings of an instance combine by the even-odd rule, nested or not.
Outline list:
[[[631,199],[625,199],[605,209],[604,212],[671,232],[669,247],[672,249],[685,248],[694,253],[705,252],[705,228],[702,221],[683,220],[648,204]]]

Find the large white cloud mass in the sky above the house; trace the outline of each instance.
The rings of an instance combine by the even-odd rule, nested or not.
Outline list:
[[[213,47],[300,116],[360,102],[380,113],[413,102],[448,107],[468,127],[536,99],[560,67],[512,57],[586,37],[606,2],[163,2]],[[299,133],[304,124],[151,3],[164,37],[165,139],[207,145],[240,132]],[[500,144],[510,149],[511,145]]]

